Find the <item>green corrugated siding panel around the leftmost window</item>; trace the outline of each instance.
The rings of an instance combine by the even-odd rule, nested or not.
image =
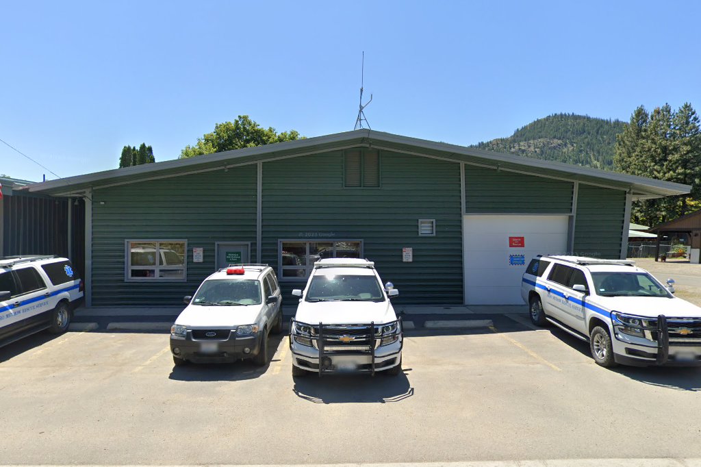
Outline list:
[[[257,167],[213,171],[93,192],[93,304],[172,305],[215,268],[215,242],[251,242],[255,260]],[[104,202],[104,205],[100,202]],[[125,282],[127,239],[187,241],[187,281]],[[192,248],[203,247],[203,263]]]

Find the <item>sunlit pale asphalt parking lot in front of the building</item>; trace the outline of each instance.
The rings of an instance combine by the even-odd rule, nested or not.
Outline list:
[[[700,370],[606,370],[559,330],[492,319],[407,334],[400,377],[293,380],[284,335],[264,368],[175,368],[168,334],[36,334],[0,348],[1,463],[700,456]]]

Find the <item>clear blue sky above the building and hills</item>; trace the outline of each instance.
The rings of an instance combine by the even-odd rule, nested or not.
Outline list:
[[[454,144],[557,112],[701,111],[696,1],[0,1],[0,139],[61,177],[177,158],[248,114]],[[0,173],[55,178],[0,143]]]

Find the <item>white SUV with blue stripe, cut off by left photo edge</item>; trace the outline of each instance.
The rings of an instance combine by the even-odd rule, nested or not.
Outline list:
[[[83,281],[66,258],[0,257],[0,346],[34,332],[68,329]]]

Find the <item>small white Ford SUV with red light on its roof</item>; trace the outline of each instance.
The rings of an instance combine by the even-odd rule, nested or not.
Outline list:
[[[268,363],[268,333],[283,331],[280,286],[267,264],[234,264],[207,277],[170,329],[175,365]]]

